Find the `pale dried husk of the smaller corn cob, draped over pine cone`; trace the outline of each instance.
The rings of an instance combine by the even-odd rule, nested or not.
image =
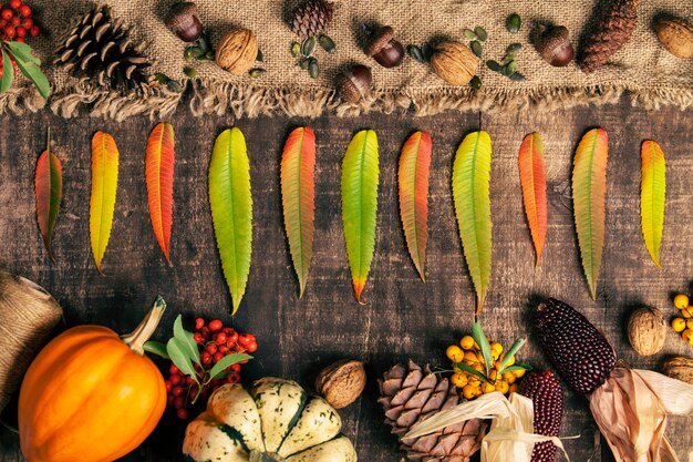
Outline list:
[[[493,420],[490,431],[482,440],[482,462],[530,462],[535,443],[541,441],[551,441],[566,453],[558,438],[534,433],[534,405],[529,398],[511,393],[508,399],[498,391],[441,411],[414,425],[404,438],[420,438],[470,419]]]

